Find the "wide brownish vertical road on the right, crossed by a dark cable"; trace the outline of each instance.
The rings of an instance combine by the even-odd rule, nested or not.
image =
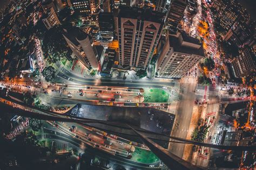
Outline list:
[[[197,79],[194,77],[184,77],[180,87],[181,101],[176,114],[176,122],[178,123],[178,126],[177,128],[173,128],[171,136],[186,139],[191,122],[194,100],[196,100],[196,94],[194,91],[197,87]],[[184,147],[184,144],[172,143],[168,150],[173,154],[176,154],[178,157],[183,158]]]

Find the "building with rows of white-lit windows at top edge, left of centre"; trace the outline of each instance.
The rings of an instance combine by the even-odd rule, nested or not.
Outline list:
[[[72,7],[80,13],[91,14],[90,0],[71,0]]]

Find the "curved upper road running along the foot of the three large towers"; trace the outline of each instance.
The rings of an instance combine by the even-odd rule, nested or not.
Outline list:
[[[174,82],[170,81],[160,81],[160,80],[152,80],[152,81],[144,81],[144,80],[122,80],[122,79],[106,79],[100,78],[97,79],[95,77],[81,77],[76,74],[69,72],[62,68],[55,79],[56,82],[62,83],[63,79],[72,81],[78,84],[87,84],[91,86],[119,86],[119,87],[152,87],[152,88],[161,88],[162,86],[174,86]],[[65,81],[64,81],[65,82]]]

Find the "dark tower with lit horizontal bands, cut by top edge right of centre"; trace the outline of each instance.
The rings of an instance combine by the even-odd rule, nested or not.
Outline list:
[[[170,10],[166,18],[166,23],[172,30],[177,29],[177,26],[183,17],[186,6],[186,0],[173,0],[171,2]]]

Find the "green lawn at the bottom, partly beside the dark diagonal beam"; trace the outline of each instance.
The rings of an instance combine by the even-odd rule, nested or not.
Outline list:
[[[152,151],[143,150],[142,148],[135,147],[135,151],[132,153],[131,160],[143,164],[152,164],[154,162],[158,162],[159,158]]]

